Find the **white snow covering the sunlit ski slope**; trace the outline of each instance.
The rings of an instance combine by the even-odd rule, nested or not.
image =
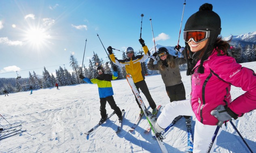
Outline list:
[[[256,62],[242,65],[256,72]],[[186,76],[186,72],[181,72],[181,74],[186,88],[186,98],[189,99],[190,77]],[[146,76],[146,83],[157,105],[165,106],[169,103],[161,75]],[[62,86],[59,90],[56,88],[34,90],[32,95],[30,91],[9,94],[8,97],[1,95],[0,114],[13,126],[22,123],[22,129],[27,131],[0,141],[0,152],[160,153],[157,141],[152,139],[152,131],[144,133],[148,126],[145,117],[132,133],[129,132],[140,110],[127,81],[125,79],[112,81],[112,86],[116,104],[121,110],[126,111],[122,130],[118,134],[114,132],[118,122],[116,115],[91,134],[83,134],[95,126],[100,119],[99,95],[95,84]],[[244,91],[239,88],[231,88],[233,99],[243,93]],[[148,107],[145,96],[143,94],[141,96]],[[106,109],[108,114],[112,113],[108,103]],[[151,108],[149,110],[151,111]],[[255,120],[255,111],[233,120],[254,152],[256,152]],[[8,126],[2,117],[0,117],[0,124]],[[195,126],[195,118],[193,118],[192,126]],[[186,152],[187,134],[184,118],[177,122],[165,136],[164,143],[169,153]],[[217,153],[249,152],[229,123],[218,137],[215,151]]]

